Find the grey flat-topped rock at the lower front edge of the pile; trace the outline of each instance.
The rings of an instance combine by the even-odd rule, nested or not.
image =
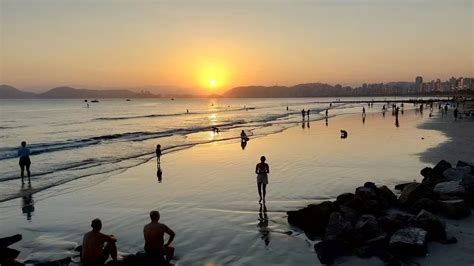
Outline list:
[[[396,231],[390,238],[390,250],[402,256],[426,255],[427,232],[417,227],[405,227]]]

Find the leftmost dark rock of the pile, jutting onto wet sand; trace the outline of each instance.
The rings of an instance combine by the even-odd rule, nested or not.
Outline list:
[[[288,223],[301,228],[309,239],[314,240],[324,234],[329,215],[337,210],[337,204],[331,201],[309,205],[297,211],[288,211]]]

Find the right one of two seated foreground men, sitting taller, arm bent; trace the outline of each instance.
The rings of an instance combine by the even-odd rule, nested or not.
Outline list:
[[[165,263],[165,249],[173,242],[175,233],[165,224],[159,223],[160,213],[158,211],[151,211],[150,219],[151,222],[143,227],[147,259],[152,260],[150,265],[167,265],[171,258],[167,258],[168,261]],[[169,235],[166,244],[164,244],[165,233]]]

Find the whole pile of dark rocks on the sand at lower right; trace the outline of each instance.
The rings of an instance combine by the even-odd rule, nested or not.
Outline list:
[[[335,201],[288,211],[288,222],[302,229],[323,264],[339,256],[378,257],[387,265],[403,265],[424,256],[429,241],[453,244],[443,219],[462,219],[474,207],[474,166],[440,161],[421,170],[421,183],[386,186],[366,182]]]

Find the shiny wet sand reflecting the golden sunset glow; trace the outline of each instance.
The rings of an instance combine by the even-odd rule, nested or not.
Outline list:
[[[177,233],[179,265],[318,265],[313,244],[289,227],[285,212],[333,199],[369,180],[389,187],[421,180],[420,169],[429,165],[421,161],[423,153],[448,140],[439,131],[417,128],[426,116],[405,111],[397,127],[390,113],[368,114],[365,122],[360,115],[341,115],[330,118],[327,126],[324,120],[309,127],[300,123],[251,139],[245,149],[236,141],[198,145],[162,157],[161,183],[151,160],[113,176],[83,178],[34,194],[30,221],[22,214],[25,199],[0,203],[0,234],[23,234],[13,246],[23,259],[54,259],[71,254],[90,220],[100,217],[103,232],[117,236],[119,250],[135,253],[143,246],[148,212],[156,209]],[[347,139],[340,138],[341,129],[348,131]],[[254,174],[261,155],[270,165],[266,212],[260,212]],[[472,226],[464,223],[458,229]],[[452,228],[448,231],[458,237]],[[472,238],[458,237],[460,243],[443,246],[425,260],[445,255],[444,250],[469,257]],[[456,262],[472,264],[470,259]],[[338,263],[380,261],[342,258]]]

